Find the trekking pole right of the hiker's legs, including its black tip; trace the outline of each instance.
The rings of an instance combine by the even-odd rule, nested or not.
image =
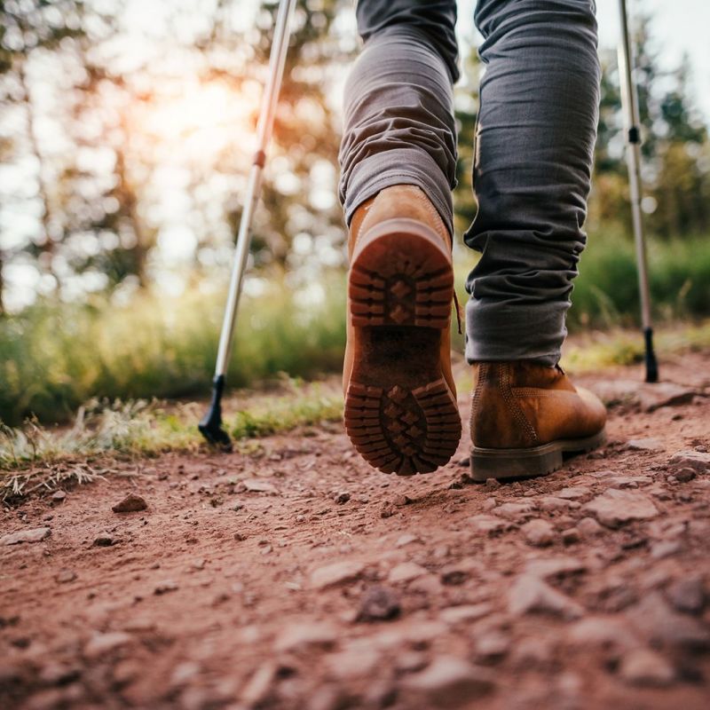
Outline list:
[[[649,289],[646,242],[643,235],[641,215],[641,121],[638,112],[638,92],[634,83],[631,35],[628,28],[626,0],[619,0],[621,37],[619,40],[619,80],[621,103],[624,108],[627,129],[628,186],[631,197],[631,215],[634,221],[634,241],[638,287],[641,295],[641,321],[646,350],[646,382],[659,381],[659,366],[653,351],[653,325],[651,323],[651,291]]]

